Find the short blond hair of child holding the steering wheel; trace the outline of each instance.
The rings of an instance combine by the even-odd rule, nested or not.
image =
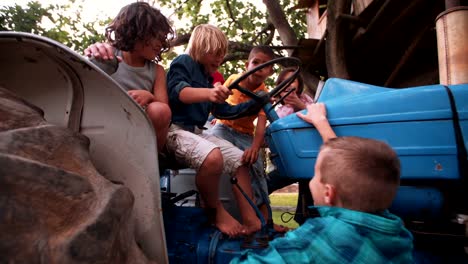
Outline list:
[[[187,53],[198,62],[208,53],[224,56],[227,49],[228,40],[219,28],[209,24],[201,24],[196,26],[192,32]]]

